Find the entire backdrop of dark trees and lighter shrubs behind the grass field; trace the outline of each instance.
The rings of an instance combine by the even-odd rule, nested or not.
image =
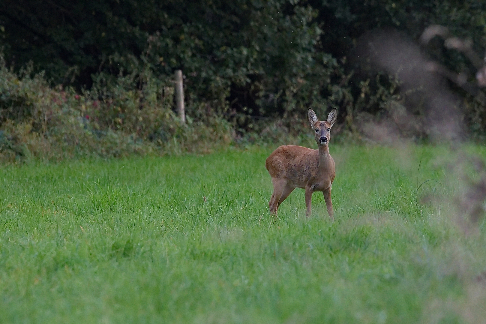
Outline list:
[[[357,39],[394,28],[417,40],[431,24],[484,52],[481,0],[3,0],[0,155],[302,142],[308,108],[318,116],[337,108],[337,133],[354,136],[360,116],[400,101],[393,78],[361,73],[349,59]],[[428,52],[456,72],[471,68],[438,40]],[[176,69],[187,126],[174,114]],[[484,103],[451,87],[464,99],[469,136],[482,140]]]

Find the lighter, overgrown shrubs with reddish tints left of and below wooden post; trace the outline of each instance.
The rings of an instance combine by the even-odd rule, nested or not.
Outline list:
[[[98,80],[79,95],[31,74],[14,73],[0,57],[0,159],[208,152],[232,138],[224,119],[181,125],[171,109],[173,88],[150,75],[143,90],[125,77],[111,85]]]

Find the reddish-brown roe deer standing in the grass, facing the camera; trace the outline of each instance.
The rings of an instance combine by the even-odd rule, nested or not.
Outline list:
[[[328,119],[318,121],[312,109],[308,119],[315,131],[315,141],[319,150],[296,145],[278,147],[265,161],[265,168],[272,177],[274,191],[270,198],[270,214],[277,215],[278,206],[295,188],[305,189],[306,216],[311,215],[311,200],[314,191],[322,191],[331,220],[331,185],[335,176],[334,160],[329,154],[330,128],[337,118],[332,109]]]

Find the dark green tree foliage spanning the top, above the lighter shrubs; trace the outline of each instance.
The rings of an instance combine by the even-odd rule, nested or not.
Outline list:
[[[365,31],[396,28],[417,39],[438,23],[482,52],[485,22],[480,0],[4,0],[0,46],[8,65],[33,61],[52,85],[78,92],[119,77],[125,90],[144,91],[147,75],[167,85],[181,68],[195,120],[219,113],[249,131],[255,118],[278,116],[291,127],[307,108],[324,114],[331,106],[352,128],[361,112],[386,113],[383,102],[397,94],[387,77],[356,73],[349,57]],[[472,68],[437,39],[425,51],[456,72]],[[484,107],[453,90],[466,99],[471,130],[482,133]]]

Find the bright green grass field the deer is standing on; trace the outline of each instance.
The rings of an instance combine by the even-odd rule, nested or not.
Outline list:
[[[0,323],[484,323],[453,154],[330,152],[335,222],[302,189],[270,218],[269,149],[1,167]]]

